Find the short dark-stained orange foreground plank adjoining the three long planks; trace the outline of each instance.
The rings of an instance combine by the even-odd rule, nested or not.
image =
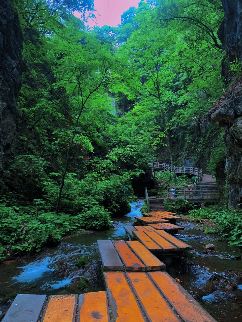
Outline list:
[[[110,322],[105,291],[81,294],[78,304],[77,322]]]

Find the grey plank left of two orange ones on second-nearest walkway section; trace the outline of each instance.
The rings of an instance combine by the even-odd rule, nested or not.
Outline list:
[[[110,240],[99,239],[97,245],[104,270],[124,270],[124,265]]]

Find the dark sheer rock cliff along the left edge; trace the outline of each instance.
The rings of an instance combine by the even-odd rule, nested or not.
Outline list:
[[[8,165],[13,147],[17,146],[17,95],[22,85],[22,44],[17,14],[10,0],[0,6],[0,175]]]

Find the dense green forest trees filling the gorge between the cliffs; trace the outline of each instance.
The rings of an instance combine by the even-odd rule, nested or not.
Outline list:
[[[149,160],[201,167],[226,191],[224,130],[207,117],[232,81],[220,0],[140,1],[118,27],[94,28],[91,0],[11,4],[22,81],[2,130],[3,253],[22,225],[21,251],[109,226],[153,188]]]

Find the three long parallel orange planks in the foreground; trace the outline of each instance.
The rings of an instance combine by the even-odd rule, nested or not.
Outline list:
[[[115,322],[216,322],[166,272],[104,272]]]

